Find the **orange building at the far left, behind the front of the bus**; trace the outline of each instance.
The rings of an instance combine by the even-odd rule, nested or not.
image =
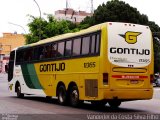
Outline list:
[[[11,50],[24,44],[24,35],[17,33],[3,33],[3,36],[0,37],[0,72],[5,71],[5,65],[8,63]]]

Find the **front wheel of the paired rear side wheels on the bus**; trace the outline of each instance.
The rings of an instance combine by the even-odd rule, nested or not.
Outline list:
[[[66,105],[67,103],[67,91],[64,85],[61,85],[58,88],[58,103],[60,105]]]

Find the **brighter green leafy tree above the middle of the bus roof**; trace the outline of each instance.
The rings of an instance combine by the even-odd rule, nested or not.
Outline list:
[[[26,35],[26,44],[34,43],[42,39],[56,35],[78,31],[77,25],[70,21],[57,21],[52,15],[47,15],[47,20],[30,16],[31,22],[28,23],[30,33]]]

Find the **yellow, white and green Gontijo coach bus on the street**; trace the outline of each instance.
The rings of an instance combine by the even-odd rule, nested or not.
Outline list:
[[[148,26],[106,22],[24,45],[10,53],[9,88],[74,107],[151,99],[152,44]]]

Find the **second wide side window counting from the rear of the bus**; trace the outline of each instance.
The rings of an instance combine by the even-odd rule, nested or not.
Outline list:
[[[74,39],[73,41],[73,56],[80,55],[81,38]]]

